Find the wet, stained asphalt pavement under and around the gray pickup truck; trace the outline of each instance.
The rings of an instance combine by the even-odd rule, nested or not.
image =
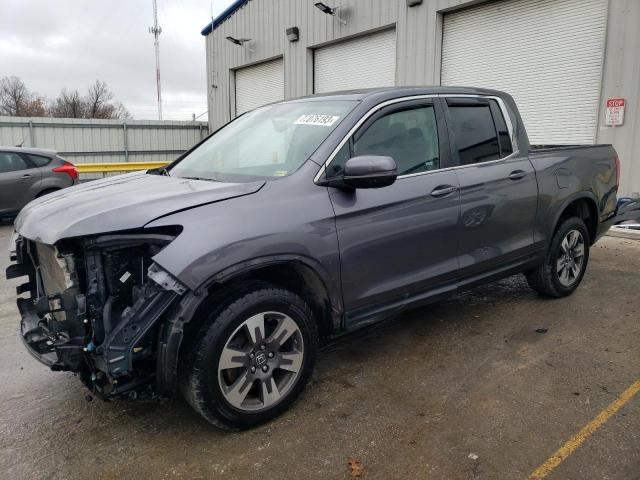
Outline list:
[[[526,479],[640,379],[640,242],[623,238],[569,298],[514,276],[333,341],[293,408],[242,433],[180,398],[85,400],[22,346],[17,283],[0,280],[6,479]],[[640,479],[640,394],[587,433],[547,478]]]

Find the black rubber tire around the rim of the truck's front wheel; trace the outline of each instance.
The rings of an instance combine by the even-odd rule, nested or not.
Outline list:
[[[283,413],[304,389],[311,377],[315,363],[318,346],[317,325],[309,305],[302,298],[266,282],[252,282],[241,290],[236,289],[235,293],[228,296],[226,300],[216,303],[218,304],[212,306],[199,332],[192,337],[191,343],[185,346],[186,354],[180,365],[180,389],[187,402],[216,427],[225,430],[255,427]],[[284,317],[295,322],[299,328],[296,335],[299,337],[294,340],[297,342],[297,338],[301,338],[302,362],[295,377],[289,382],[288,389],[275,404],[256,411],[247,411],[243,408],[237,408],[225,397],[222,386],[223,374],[219,372],[221,355],[223,350],[228,347],[228,342],[232,341],[235,335],[239,335],[237,332],[243,328],[248,319],[256,315],[268,314],[264,312],[280,312]],[[265,323],[269,321],[267,319]],[[256,334],[257,332],[254,332],[254,335]],[[268,334],[265,337],[266,340],[262,341],[263,344],[268,342],[270,338]],[[247,340],[250,338],[247,337]],[[268,350],[271,350],[271,346],[268,347]],[[269,351],[270,355],[271,353]],[[275,354],[276,358],[279,357],[279,354],[280,352]],[[246,358],[243,357],[243,361],[253,362],[248,359],[248,355]],[[251,368],[255,370],[255,366]],[[240,380],[244,374],[249,375],[249,367],[234,369],[232,373],[235,371],[239,371],[237,380]],[[279,370],[273,368],[271,373],[273,378],[276,377],[276,372]],[[258,374],[262,375],[260,371],[252,375]],[[293,374],[285,372],[285,375]],[[249,395],[254,387],[263,388],[262,384],[266,380],[258,379],[255,382],[250,388],[247,388],[250,392]],[[275,392],[278,392],[278,389]],[[264,404],[266,405],[266,403],[265,401]]]

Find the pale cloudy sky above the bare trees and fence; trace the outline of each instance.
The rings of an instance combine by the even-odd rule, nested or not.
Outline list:
[[[213,0],[217,15],[232,0]],[[136,119],[157,119],[152,0],[0,0],[0,77],[45,97],[96,79]],[[207,110],[204,37],[211,0],[158,0],[163,118]],[[201,117],[206,119],[206,115]]]

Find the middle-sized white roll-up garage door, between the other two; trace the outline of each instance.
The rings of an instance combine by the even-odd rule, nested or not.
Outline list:
[[[396,31],[318,48],[313,65],[315,93],[391,87],[396,82]]]

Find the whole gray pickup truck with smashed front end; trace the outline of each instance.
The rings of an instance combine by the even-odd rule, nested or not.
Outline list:
[[[320,341],[524,273],[564,297],[614,222],[611,145],[533,146],[513,99],[392,88],[258,108],[159,170],[30,203],[27,349],[105,399],[282,413]],[[428,346],[426,347],[428,348]]]

